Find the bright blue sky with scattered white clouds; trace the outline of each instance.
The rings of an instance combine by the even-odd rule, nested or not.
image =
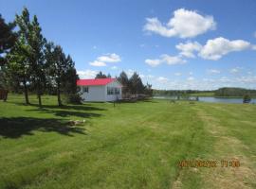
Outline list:
[[[24,7],[80,77],[124,70],[156,89],[256,89],[254,0],[0,0],[7,21]]]

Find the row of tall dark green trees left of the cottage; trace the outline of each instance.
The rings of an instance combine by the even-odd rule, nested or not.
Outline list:
[[[42,34],[37,16],[30,18],[28,9],[7,24],[0,15],[0,88],[25,95],[37,95],[42,106],[43,94],[57,94],[62,106],[62,94],[68,101],[78,102],[75,62],[64,54],[60,45],[48,42]]]

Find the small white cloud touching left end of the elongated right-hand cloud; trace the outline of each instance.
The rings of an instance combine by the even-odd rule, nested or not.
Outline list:
[[[175,47],[181,51],[179,53],[181,56],[184,56],[187,58],[195,58],[193,52],[200,51],[202,48],[202,45],[197,42],[193,42],[193,43],[187,42],[187,43],[178,43]]]

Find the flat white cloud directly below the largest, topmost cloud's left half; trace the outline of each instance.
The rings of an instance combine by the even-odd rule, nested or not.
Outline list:
[[[161,55],[159,59],[155,59],[155,60],[150,60],[147,59],[145,60],[145,63],[149,64],[152,67],[155,67],[161,63],[167,63],[169,65],[174,65],[174,64],[183,64],[186,63],[186,60],[182,60],[180,57],[178,56],[170,56],[170,55]]]

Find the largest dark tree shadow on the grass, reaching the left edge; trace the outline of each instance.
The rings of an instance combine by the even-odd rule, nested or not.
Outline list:
[[[19,138],[23,135],[33,135],[33,130],[44,132],[58,132],[67,136],[72,133],[86,134],[84,128],[70,127],[67,121],[60,119],[43,119],[30,117],[0,118],[0,136],[5,138]]]

